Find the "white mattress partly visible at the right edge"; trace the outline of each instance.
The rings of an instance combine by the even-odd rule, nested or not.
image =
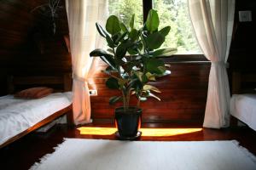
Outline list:
[[[233,94],[230,114],[256,131],[256,94]]]

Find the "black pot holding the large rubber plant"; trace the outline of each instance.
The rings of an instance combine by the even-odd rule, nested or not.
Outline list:
[[[115,109],[115,125],[119,139],[136,139],[140,136],[138,129],[141,127],[142,113],[143,110],[137,107]]]

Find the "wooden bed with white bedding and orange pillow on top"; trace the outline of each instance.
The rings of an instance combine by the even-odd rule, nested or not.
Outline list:
[[[72,122],[72,79],[69,74],[58,77],[9,77],[9,95],[0,97],[0,148],[20,139],[38,127],[67,114]],[[47,86],[55,93],[41,99],[19,99],[16,87]]]

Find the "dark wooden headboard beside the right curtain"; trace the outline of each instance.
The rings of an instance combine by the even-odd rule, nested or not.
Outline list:
[[[232,94],[256,94],[256,73],[232,72]]]

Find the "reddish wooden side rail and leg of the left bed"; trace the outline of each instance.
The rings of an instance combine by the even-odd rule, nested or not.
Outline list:
[[[73,107],[73,105],[69,105],[66,108],[62,109],[61,111],[57,111],[53,115],[50,115],[50,116],[46,117],[43,121],[38,122],[34,126],[29,127],[28,129],[26,129],[22,133],[19,133],[19,134],[15,135],[13,138],[11,138],[11,139],[7,140],[6,142],[4,142],[3,144],[1,144],[0,149],[3,148],[4,146],[14,142],[15,140],[20,139],[21,137],[25,136],[27,133],[31,133],[32,131],[38,129],[39,127],[42,127],[42,126],[46,125],[49,122],[52,122],[53,120],[55,120],[56,118],[64,115],[65,113],[71,114],[72,113],[71,112],[72,107]]]

